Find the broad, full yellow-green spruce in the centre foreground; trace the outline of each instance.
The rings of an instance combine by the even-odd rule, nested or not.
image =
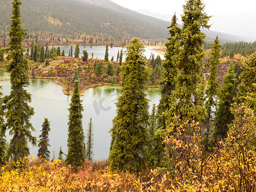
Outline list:
[[[148,126],[145,83],[149,72],[140,40],[132,39],[126,48],[127,57],[121,73],[121,95],[116,102],[116,116],[110,130],[112,140],[109,164],[112,169],[138,173],[145,166]]]

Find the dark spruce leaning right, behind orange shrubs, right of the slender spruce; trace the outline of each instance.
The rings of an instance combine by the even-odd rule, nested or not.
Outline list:
[[[227,137],[228,124],[234,119],[234,115],[230,111],[230,106],[234,102],[232,93],[234,92],[236,83],[236,74],[234,72],[234,65],[230,63],[228,72],[224,76],[224,82],[218,92],[218,108],[216,109],[216,116],[214,118],[213,140],[224,140]]]

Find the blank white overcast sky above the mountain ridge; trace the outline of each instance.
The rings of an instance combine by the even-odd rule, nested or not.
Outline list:
[[[176,12],[178,22],[185,0],[111,0],[130,10],[145,9],[150,12],[172,15]],[[256,40],[255,0],[204,0],[205,12],[212,15],[211,30],[232,35],[247,36]],[[171,19],[171,18],[170,18]]]

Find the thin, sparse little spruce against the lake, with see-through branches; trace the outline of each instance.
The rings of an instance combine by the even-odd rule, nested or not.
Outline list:
[[[92,161],[93,158],[93,129],[92,129],[92,118],[90,118],[90,122],[88,124],[87,134],[86,134],[86,159]]]

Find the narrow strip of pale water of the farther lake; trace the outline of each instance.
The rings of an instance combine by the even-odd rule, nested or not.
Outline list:
[[[62,52],[64,49],[65,52],[65,56],[68,56],[68,51],[70,50],[71,45],[60,45],[60,46],[54,46],[54,47],[60,47],[60,51]],[[51,49],[52,47],[50,46],[49,49]],[[163,54],[159,54],[156,51],[151,51],[150,49],[153,49],[154,47],[145,47],[145,56],[147,59],[150,58],[150,54],[154,54],[155,58],[157,55],[159,55],[161,57],[162,60],[164,60],[164,56]],[[72,45],[72,49],[73,49],[73,56],[74,56],[74,52],[76,49],[76,45]],[[99,58],[101,60],[104,60],[104,56],[105,56],[105,51],[106,51],[106,46],[83,46],[80,45],[79,46],[80,49],[80,53],[79,53],[79,57],[83,56],[83,51],[86,50],[88,52],[88,57],[92,58],[92,52],[93,52],[93,58]],[[108,47],[108,54],[109,54],[109,60],[111,60],[112,56],[114,56],[114,61],[116,61],[116,56],[117,56],[117,52],[123,50],[123,52],[125,51],[125,48],[122,47]],[[125,61],[125,55],[123,56],[123,60]]]

